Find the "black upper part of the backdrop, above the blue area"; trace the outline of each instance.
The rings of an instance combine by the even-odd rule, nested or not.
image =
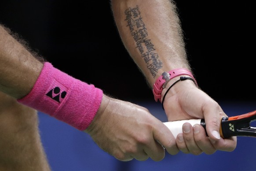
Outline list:
[[[176,0],[188,59],[216,100],[255,99],[252,1]],[[124,49],[108,0],[5,0],[0,23],[60,70],[123,100],[154,101]]]

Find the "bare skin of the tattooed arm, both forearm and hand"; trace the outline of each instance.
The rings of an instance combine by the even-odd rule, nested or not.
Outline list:
[[[124,46],[151,88],[164,71],[176,68],[191,71],[173,1],[112,0],[112,9]],[[132,24],[133,21],[135,24]],[[146,56],[148,58],[145,54],[149,54]],[[161,97],[178,79],[179,77],[176,77],[167,84]],[[222,139],[219,136],[220,118],[227,115],[216,101],[196,87],[191,80],[175,84],[166,94],[163,105],[168,121],[205,119],[208,136],[202,126],[195,126],[193,131],[191,125],[186,123],[185,126],[190,128],[190,131],[178,135],[176,143],[179,150],[197,155],[202,152],[213,154],[216,150],[235,149],[236,137]]]

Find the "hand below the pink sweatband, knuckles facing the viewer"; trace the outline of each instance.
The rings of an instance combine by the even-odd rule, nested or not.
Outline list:
[[[121,161],[161,161],[165,149],[172,155],[179,152],[171,131],[146,108],[106,95],[85,132]]]

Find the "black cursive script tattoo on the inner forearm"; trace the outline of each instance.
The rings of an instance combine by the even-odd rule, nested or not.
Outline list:
[[[156,76],[157,71],[162,68],[162,62],[154,49],[154,45],[148,38],[146,31],[146,25],[143,23],[139,7],[128,8],[125,10],[125,21],[127,21],[127,27],[136,42],[136,48],[139,49],[141,57],[144,59],[147,68],[153,77]]]

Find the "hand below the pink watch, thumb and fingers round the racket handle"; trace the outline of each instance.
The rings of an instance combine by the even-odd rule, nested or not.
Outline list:
[[[162,96],[165,91],[164,89]],[[192,128],[189,123],[183,124],[183,133],[178,134],[176,139],[179,150],[197,155],[235,149],[236,137],[223,139],[219,136],[220,119],[227,115],[216,101],[197,88],[191,80],[180,81],[173,86],[166,94],[163,105],[168,121],[205,119],[208,136],[200,125]]]

